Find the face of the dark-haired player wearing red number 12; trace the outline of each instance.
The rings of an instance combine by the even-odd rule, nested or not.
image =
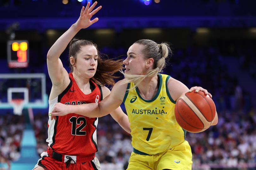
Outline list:
[[[81,47],[81,51],[76,55],[74,71],[84,78],[91,78],[96,73],[98,65],[97,49],[92,45]]]

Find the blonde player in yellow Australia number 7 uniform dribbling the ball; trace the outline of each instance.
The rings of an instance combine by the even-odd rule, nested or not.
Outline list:
[[[52,116],[77,113],[101,117],[125,103],[131,123],[132,146],[128,170],[188,170],[192,169],[192,153],[184,139],[186,132],[174,118],[175,101],[182,93],[195,90],[211,94],[201,87],[190,90],[180,81],[159,74],[171,50],[166,43],[138,40],[129,48],[125,79],[117,82],[111,93],[100,103],[54,106]],[[216,125],[217,114],[212,122]]]

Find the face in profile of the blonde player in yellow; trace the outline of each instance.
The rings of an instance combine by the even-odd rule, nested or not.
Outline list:
[[[123,61],[125,73],[137,75],[145,75],[147,73],[148,69],[145,67],[147,59],[144,59],[142,49],[143,45],[137,43],[132,44],[128,49],[127,58]]]

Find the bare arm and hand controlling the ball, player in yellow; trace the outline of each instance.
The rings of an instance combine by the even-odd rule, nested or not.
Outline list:
[[[178,80],[175,80],[172,77],[169,78],[169,80],[167,82],[167,86],[168,86],[169,93],[170,93],[172,99],[174,99],[174,101],[177,101],[183,93],[186,93],[189,90],[191,92],[196,90],[196,93],[198,91],[203,91],[205,95],[208,94],[210,97],[212,97],[212,95],[206,89],[204,89],[202,87],[198,87],[198,86],[188,89],[185,84],[183,84],[182,82],[180,82]],[[211,122],[211,126],[216,125],[217,123],[218,123],[218,115],[216,112],[215,117],[214,117],[213,121]]]

